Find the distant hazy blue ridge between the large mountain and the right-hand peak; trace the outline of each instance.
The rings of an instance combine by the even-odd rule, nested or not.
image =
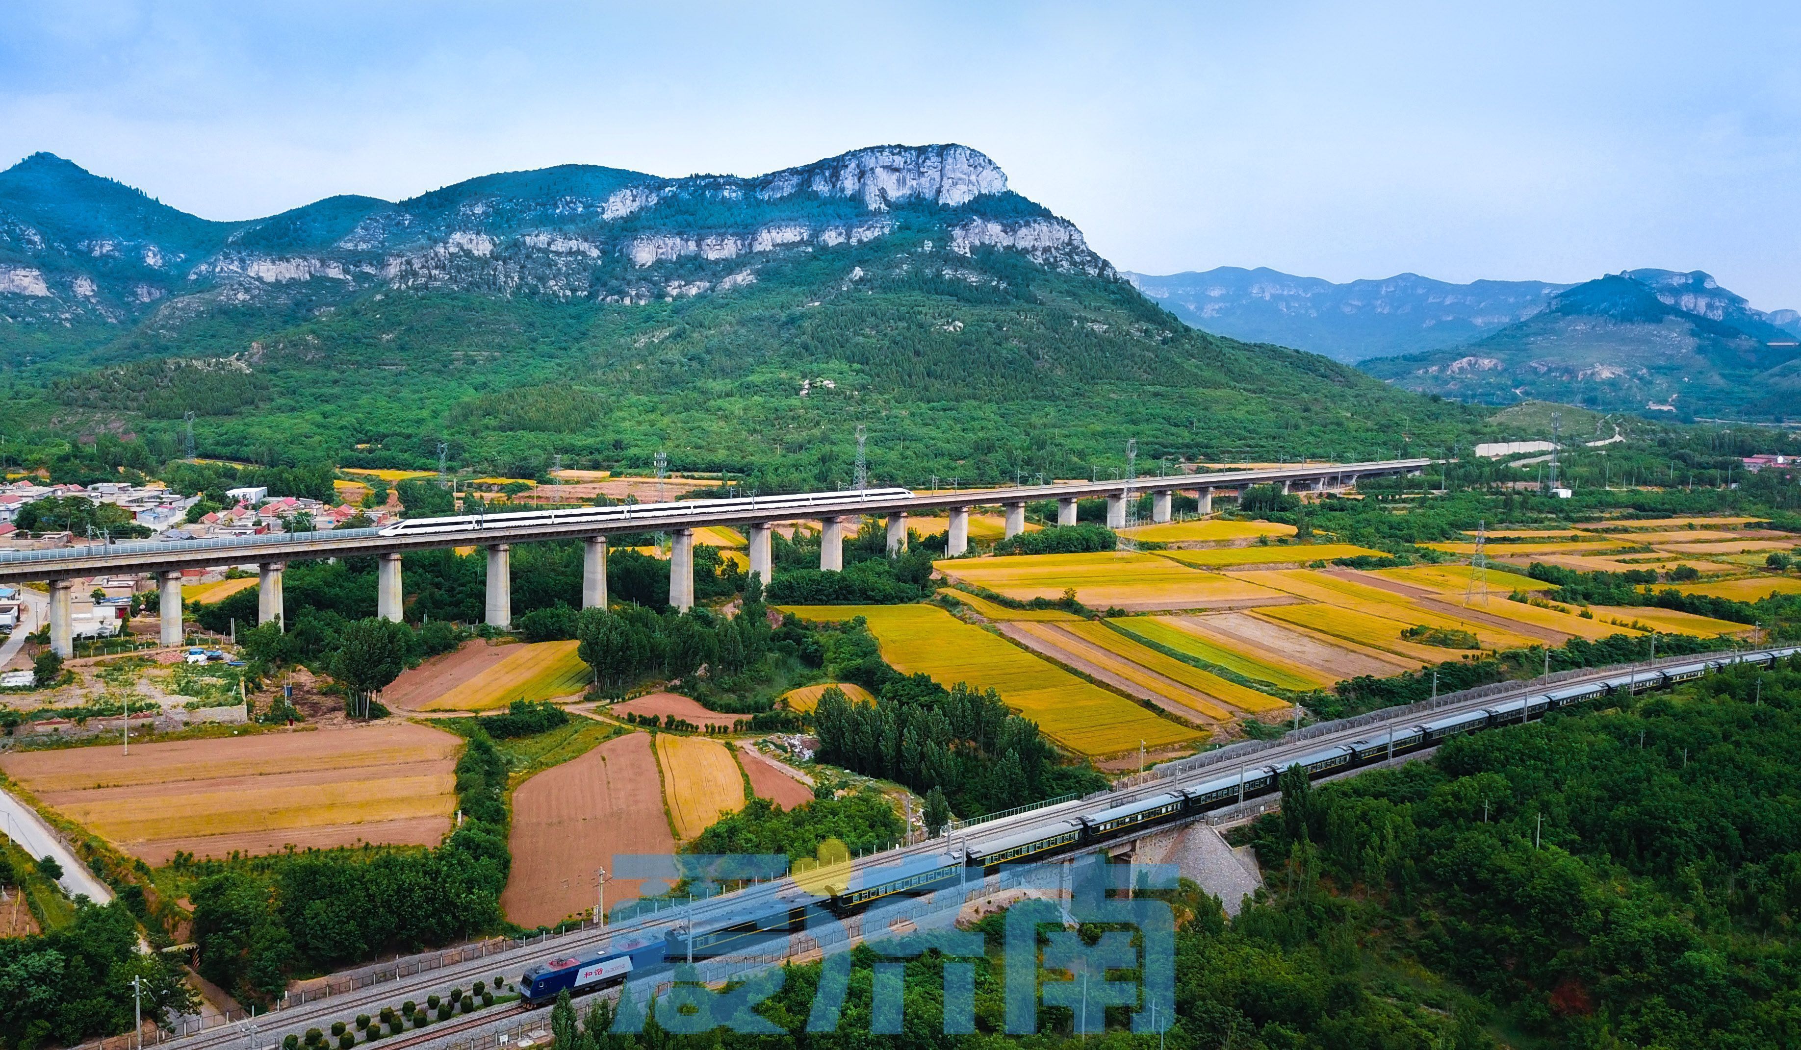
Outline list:
[[[1126,277],[1203,331],[1344,362],[1459,346],[1525,321],[1569,288],[1549,281],[1452,285],[1417,274],[1335,285],[1264,267]]]

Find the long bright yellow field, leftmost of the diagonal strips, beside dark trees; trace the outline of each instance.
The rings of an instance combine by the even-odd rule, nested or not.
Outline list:
[[[1081,755],[1115,755],[1138,746],[1187,744],[1199,731],[1160,719],[1126,697],[931,605],[783,605],[801,620],[868,620],[882,659],[900,674],[928,674],[942,686],[992,688],[1046,737]]]

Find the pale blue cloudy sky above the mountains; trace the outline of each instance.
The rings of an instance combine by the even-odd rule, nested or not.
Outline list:
[[[1797,4],[11,0],[0,164],[207,218],[562,162],[964,142],[1122,268],[1579,281],[1801,308]]]

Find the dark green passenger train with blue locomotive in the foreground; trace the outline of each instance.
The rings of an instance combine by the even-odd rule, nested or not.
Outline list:
[[[1300,765],[1308,778],[1333,776],[1360,765],[1387,762],[1435,747],[1452,737],[1482,729],[1531,722],[1545,713],[1599,699],[1614,690],[1644,692],[1698,679],[1733,665],[1772,666],[1778,659],[1801,654],[1801,647],[1783,647],[1752,654],[1722,654],[1697,657],[1689,663],[1652,670],[1626,670],[1605,679],[1552,686],[1542,693],[1527,693],[1495,701],[1486,708],[1426,717],[1412,726],[1394,726],[1351,744],[1333,744],[1268,765],[1244,765],[1216,776],[1171,783],[1163,791],[1106,805],[1091,800],[1091,812],[1050,818],[1012,830],[978,828],[955,836],[944,850],[897,859],[893,864],[857,868],[843,886],[825,886],[821,893],[791,892],[787,897],[747,904],[738,911],[715,915],[693,928],[670,929],[661,940],[623,942],[580,958],[551,960],[526,971],[520,980],[528,1007],[544,1005],[562,989],[605,987],[627,980],[632,973],[666,967],[683,960],[706,960],[738,955],[807,928],[812,908],[834,915],[854,915],[872,904],[897,895],[920,895],[982,879],[1009,863],[1032,863],[1059,854],[1082,850],[1115,839],[1122,834],[1162,823],[1180,821],[1207,810],[1237,805],[1239,801],[1281,791],[1284,769]]]

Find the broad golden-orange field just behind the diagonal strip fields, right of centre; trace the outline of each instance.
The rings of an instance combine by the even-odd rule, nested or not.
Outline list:
[[[1172,551],[1187,555],[1199,551]],[[1005,558],[955,558],[937,562],[953,580],[974,584],[1016,600],[1061,598],[1075,589],[1077,600],[1095,609],[1226,609],[1286,602],[1268,587],[1199,573],[1167,557],[1131,551],[1095,555],[1019,555]]]

